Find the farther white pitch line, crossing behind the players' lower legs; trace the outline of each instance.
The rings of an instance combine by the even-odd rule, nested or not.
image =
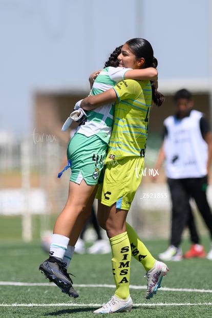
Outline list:
[[[53,283],[22,283],[22,282],[0,282],[1,286],[48,286],[57,287]],[[108,284],[74,284],[74,287],[104,287],[104,288],[115,288],[115,285]],[[146,289],[146,286],[130,285],[131,289]],[[160,290],[164,291],[188,291],[188,292],[211,292],[212,289],[192,289],[192,288],[168,288],[161,287]]]

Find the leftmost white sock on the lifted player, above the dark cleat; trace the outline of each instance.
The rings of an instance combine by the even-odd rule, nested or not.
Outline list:
[[[66,253],[68,244],[69,238],[63,235],[53,234],[49,256],[53,256],[61,261]]]

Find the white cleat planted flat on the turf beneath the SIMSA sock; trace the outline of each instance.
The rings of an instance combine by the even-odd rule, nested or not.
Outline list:
[[[133,301],[131,296],[128,299],[119,299],[115,295],[112,296],[109,302],[103,305],[101,308],[96,309],[94,313],[113,313],[131,311],[133,307]]]

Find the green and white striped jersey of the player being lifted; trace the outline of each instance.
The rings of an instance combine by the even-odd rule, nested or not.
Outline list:
[[[124,79],[124,74],[130,69],[104,68],[96,77],[90,95],[97,95],[112,88],[116,83]],[[87,137],[97,135],[103,141],[109,143],[113,119],[114,103],[100,106],[92,111],[87,111],[87,120],[78,126],[77,133]]]

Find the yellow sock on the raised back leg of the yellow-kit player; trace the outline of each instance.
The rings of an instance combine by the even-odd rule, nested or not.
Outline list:
[[[149,271],[154,267],[155,258],[141,242],[136,231],[128,223],[126,223],[126,231],[130,240],[132,256],[143,265],[146,271]]]

